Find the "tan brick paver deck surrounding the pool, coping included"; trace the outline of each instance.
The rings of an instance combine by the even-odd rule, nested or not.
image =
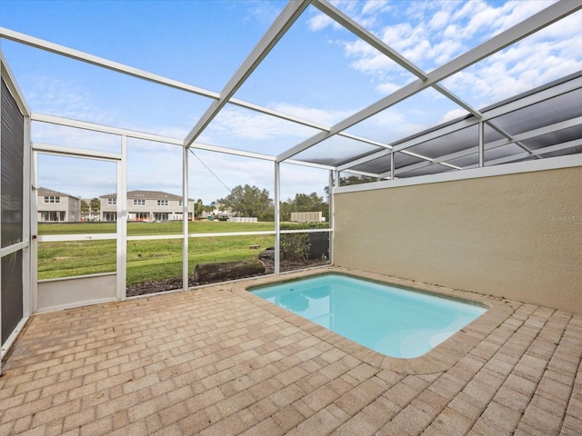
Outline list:
[[[0,435],[582,434],[581,314],[463,293],[491,309],[400,360],[245,291],[272,280],[34,316]]]

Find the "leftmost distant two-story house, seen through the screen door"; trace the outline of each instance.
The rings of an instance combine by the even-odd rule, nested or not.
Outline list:
[[[36,190],[38,222],[73,223],[81,221],[81,197],[47,188]]]

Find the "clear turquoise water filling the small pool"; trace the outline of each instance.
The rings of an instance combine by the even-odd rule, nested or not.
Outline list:
[[[250,290],[386,356],[423,355],[487,309],[377,282],[324,274]]]

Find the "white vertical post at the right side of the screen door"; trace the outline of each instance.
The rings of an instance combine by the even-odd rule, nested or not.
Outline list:
[[[121,161],[117,162],[117,298],[127,297],[127,136],[121,136]]]

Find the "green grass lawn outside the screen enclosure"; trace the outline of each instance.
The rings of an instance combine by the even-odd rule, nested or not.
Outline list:
[[[39,224],[40,234],[115,233],[115,223]],[[188,223],[189,233],[260,232],[274,223]],[[128,235],[180,234],[182,223],[128,223]],[[190,238],[188,271],[196,263],[255,259],[275,244],[273,235]],[[260,250],[249,249],[260,245]],[[38,244],[38,279],[115,271],[115,241],[75,241]],[[127,285],[182,275],[182,240],[128,241]]]

